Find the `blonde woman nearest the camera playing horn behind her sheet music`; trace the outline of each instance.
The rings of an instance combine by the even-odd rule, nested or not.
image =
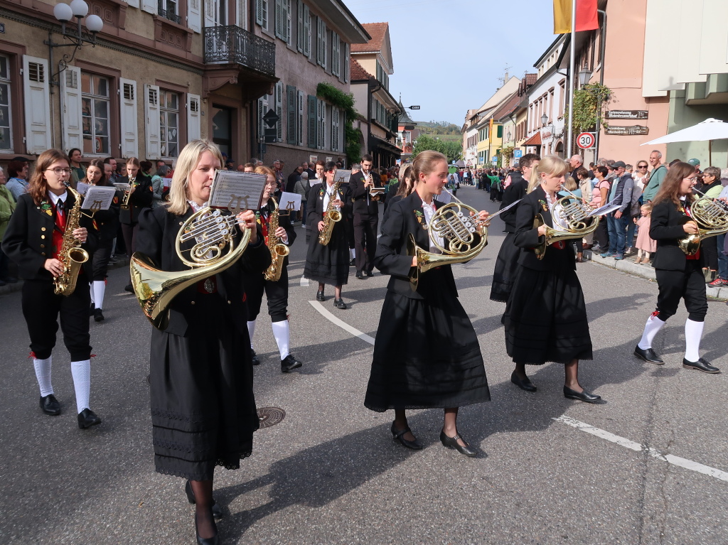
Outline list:
[[[192,140],[177,160],[170,201],[142,210],[137,250],[157,268],[188,270],[175,242],[185,220],[207,207],[215,170],[221,167],[218,146]],[[250,456],[258,429],[242,271],[262,274],[271,254],[255,213],[241,212],[238,221],[241,230],[250,230],[242,257],[179,293],[170,303],[168,324],[151,332],[154,465],[159,473],[187,479],[187,498],[197,504],[197,543],[203,545],[219,543],[214,519],[222,511],[213,499],[215,466],[238,469],[241,458]],[[194,242],[183,242],[182,249]]]

